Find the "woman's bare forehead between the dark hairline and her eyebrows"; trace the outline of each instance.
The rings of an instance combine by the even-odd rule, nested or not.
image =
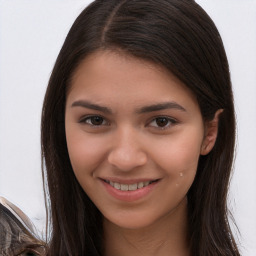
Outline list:
[[[75,71],[69,100],[88,98],[109,104],[179,101],[197,105],[194,94],[172,73],[149,61],[120,52],[98,51]]]

